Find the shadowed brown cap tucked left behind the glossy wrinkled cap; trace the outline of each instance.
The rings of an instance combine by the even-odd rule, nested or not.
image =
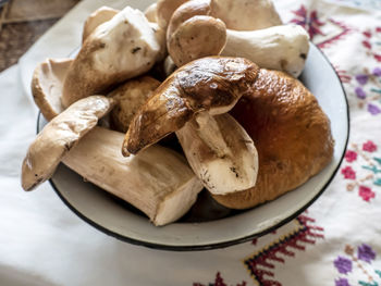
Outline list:
[[[108,97],[116,101],[115,108],[110,112],[113,127],[119,132],[126,133],[136,111],[158,86],[160,86],[159,80],[150,76],[142,76],[130,79],[111,91]]]

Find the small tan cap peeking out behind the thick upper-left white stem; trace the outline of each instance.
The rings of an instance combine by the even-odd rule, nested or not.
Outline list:
[[[82,41],[85,39],[100,25],[105,22],[110,21],[114,15],[116,15],[120,10],[112,9],[110,7],[101,7],[94,11],[86,20],[84,25],[84,32],[82,34]]]

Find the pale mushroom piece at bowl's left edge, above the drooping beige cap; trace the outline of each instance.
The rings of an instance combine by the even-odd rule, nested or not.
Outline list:
[[[47,59],[39,63],[33,73],[32,95],[44,117],[48,121],[63,111],[62,86],[72,62],[72,59]]]

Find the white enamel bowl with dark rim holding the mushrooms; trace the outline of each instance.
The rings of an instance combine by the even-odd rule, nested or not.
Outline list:
[[[132,206],[84,182],[63,164],[59,165],[50,184],[81,219],[107,235],[139,246],[179,251],[207,250],[262,236],[296,217],[327,189],[339,170],[348,140],[348,104],[344,89],[328,59],[312,43],[299,79],[317,97],[331,120],[334,154],[319,174],[273,201],[246,211],[226,211],[214,203],[210,212],[218,215],[211,215],[212,220],[204,208],[196,219],[187,214],[180,222],[156,227]],[[37,132],[45,124],[45,119],[39,115]],[[200,197],[205,199],[205,195]]]

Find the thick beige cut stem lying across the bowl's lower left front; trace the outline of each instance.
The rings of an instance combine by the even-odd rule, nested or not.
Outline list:
[[[101,127],[88,133],[63,159],[63,163],[102,189],[128,201],[155,225],[164,225],[185,214],[202,184],[184,158],[151,146],[137,156],[120,152],[124,135]]]

